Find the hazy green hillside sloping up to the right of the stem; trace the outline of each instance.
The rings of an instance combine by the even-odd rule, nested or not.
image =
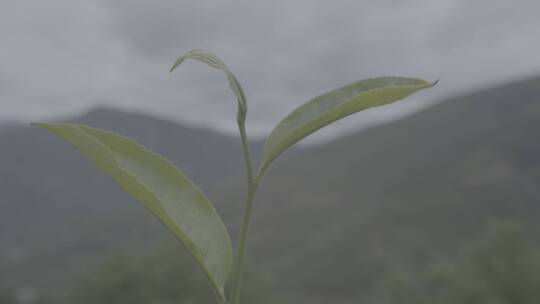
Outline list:
[[[280,162],[256,210],[258,261],[311,303],[349,303],[369,299],[388,270],[451,253],[488,220],[538,235],[539,130],[537,78]]]

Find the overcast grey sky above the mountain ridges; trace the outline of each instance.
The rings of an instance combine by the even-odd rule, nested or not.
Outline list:
[[[254,135],[355,80],[441,79],[330,134],[540,74],[539,11],[538,0],[0,0],[0,121],[107,105],[235,131],[223,75],[194,62],[168,73],[193,48],[237,75]]]

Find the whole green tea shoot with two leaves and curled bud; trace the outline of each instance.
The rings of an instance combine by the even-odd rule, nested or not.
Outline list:
[[[259,169],[254,171],[246,135],[247,102],[242,86],[223,61],[200,49],[179,57],[170,71],[186,59],[198,60],[225,73],[238,103],[236,120],[244,153],[247,195],[234,260],[229,234],[212,203],[170,161],[116,133],[68,123],[34,125],[73,145],[142,203],[193,256],[207,276],[217,302],[238,304],[253,202],[272,162],[304,137],[334,121],[392,103],[435,83],[415,78],[379,77],[354,82],[315,97],[272,130],[264,145]],[[227,283],[231,286],[229,292],[225,291]]]

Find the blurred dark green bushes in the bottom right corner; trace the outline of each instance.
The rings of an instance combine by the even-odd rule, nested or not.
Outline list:
[[[491,224],[456,257],[394,275],[388,303],[533,304],[540,299],[540,247],[515,223]]]

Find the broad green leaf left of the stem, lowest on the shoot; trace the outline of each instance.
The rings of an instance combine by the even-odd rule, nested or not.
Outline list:
[[[229,234],[204,193],[165,158],[135,141],[84,125],[36,123],[72,144],[153,213],[187,248],[225,302]]]

